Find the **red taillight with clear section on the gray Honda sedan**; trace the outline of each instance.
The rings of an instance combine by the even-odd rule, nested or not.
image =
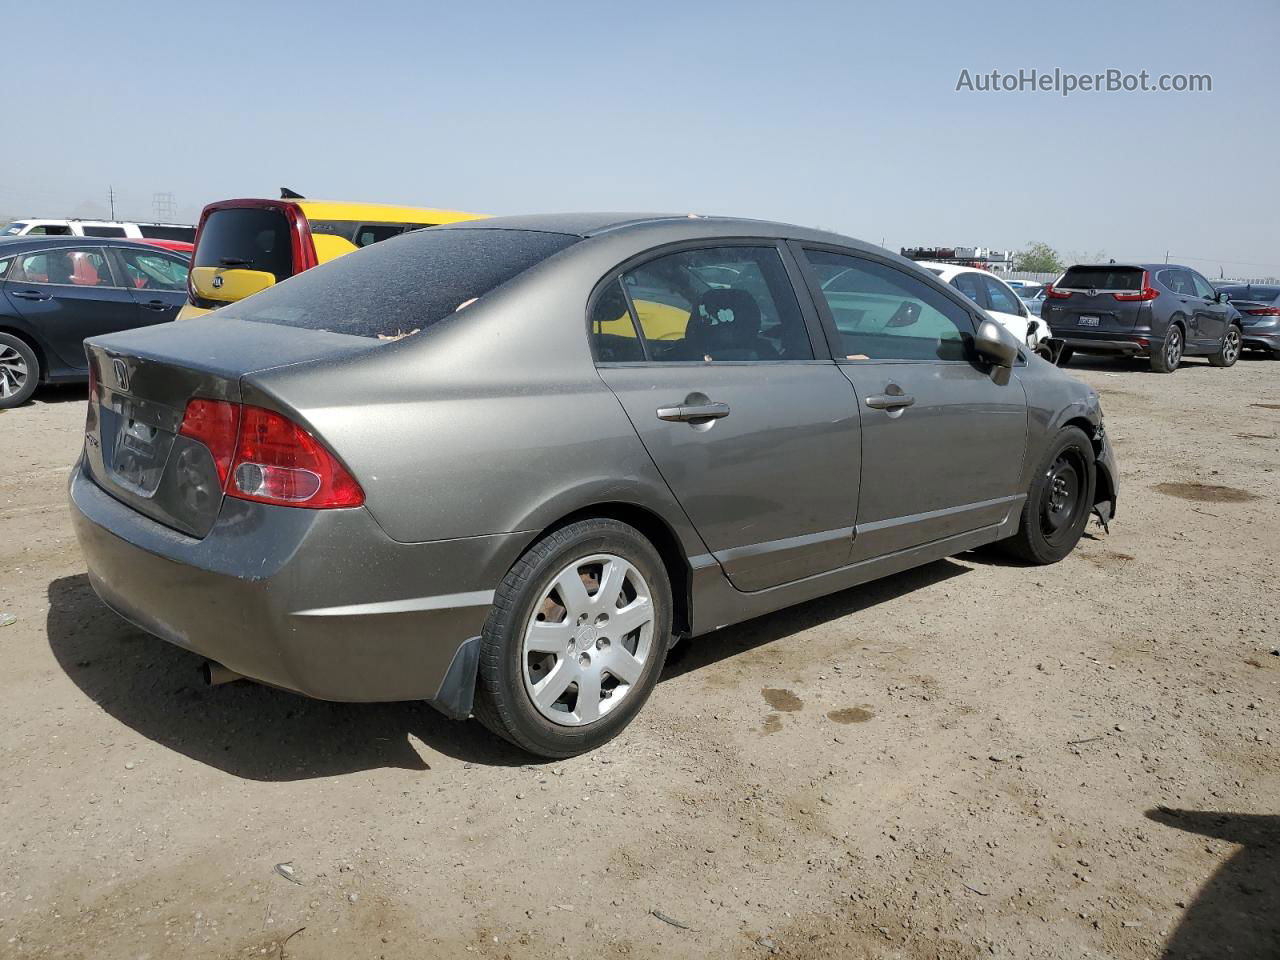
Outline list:
[[[228,497],[283,507],[358,507],[360,484],[316,438],[262,407],[196,398],[182,434],[205,444]]]

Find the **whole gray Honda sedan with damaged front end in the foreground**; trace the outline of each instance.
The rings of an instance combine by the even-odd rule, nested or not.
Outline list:
[[[1115,513],[1097,394],[902,257],[719,218],[504,218],[87,343],[70,477],[113,609],[248,677],[535,754],[667,650]]]

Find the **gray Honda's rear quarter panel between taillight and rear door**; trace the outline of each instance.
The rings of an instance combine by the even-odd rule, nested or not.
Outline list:
[[[296,411],[402,543],[532,534],[622,502],[660,516],[686,556],[705,552],[595,371],[594,275],[530,274],[541,280],[521,278],[380,349],[251,375],[244,399]]]

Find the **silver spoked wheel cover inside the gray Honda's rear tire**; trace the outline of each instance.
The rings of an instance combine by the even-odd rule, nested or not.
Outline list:
[[[534,607],[521,646],[525,691],[553,723],[593,723],[640,682],[653,649],[649,584],[609,553],[573,561]]]

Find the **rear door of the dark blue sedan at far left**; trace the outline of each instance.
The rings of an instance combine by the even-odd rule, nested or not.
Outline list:
[[[64,243],[15,257],[5,293],[22,317],[38,328],[58,360],[84,370],[84,339],[138,325],[133,297],[119,285],[106,247]]]

